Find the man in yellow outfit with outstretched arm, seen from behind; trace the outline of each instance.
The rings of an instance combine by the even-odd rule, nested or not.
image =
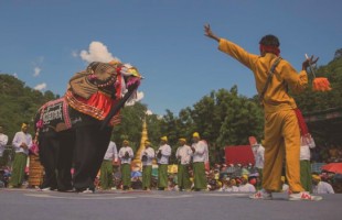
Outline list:
[[[320,200],[311,196],[300,184],[300,129],[297,119],[297,105],[288,94],[302,91],[308,84],[309,62],[316,64],[313,56],[302,63],[302,70],[296,69],[285,59],[278,58],[279,41],[274,35],[266,35],[259,42],[260,55],[246,52],[241,46],[213,34],[209,24],[204,25],[205,35],[218,42],[218,50],[241,62],[254,73],[256,89],[265,111],[265,165],[263,188],[250,196],[253,199],[272,199],[271,193],[281,189],[281,168],[286,160],[286,177],[290,190],[289,200]],[[279,59],[279,61],[277,61]],[[275,62],[274,75],[266,81]],[[265,89],[266,88],[266,89]]]

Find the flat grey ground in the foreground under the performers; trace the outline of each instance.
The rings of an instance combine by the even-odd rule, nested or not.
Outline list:
[[[342,194],[321,201],[270,201],[246,194],[177,191],[42,193],[0,189],[0,220],[340,220]]]

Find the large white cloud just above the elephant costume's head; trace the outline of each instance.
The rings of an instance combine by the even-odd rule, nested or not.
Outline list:
[[[113,59],[119,61],[119,58],[111,55],[107,46],[104,45],[101,42],[92,42],[89,44],[88,51],[83,50],[79,53],[79,56],[83,61],[86,61],[88,63],[92,63],[92,62],[106,62],[107,63]]]

